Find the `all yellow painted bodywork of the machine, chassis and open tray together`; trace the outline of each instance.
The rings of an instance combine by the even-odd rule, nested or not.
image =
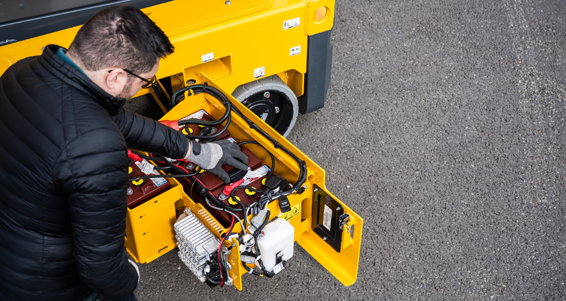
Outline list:
[[[239,85],[271,75],[279,76],[295,95],[302,95],[305,92],[308,37],[333,27],[334,0],[247,0],[232,1],[230,5],[224,1],[175,0],[144,8],[143,11],[150,14],[175,46],[175,53],[161,60],[157,78],[169,77],[173,91],[186,86],[187,82],[208,82],[221,90],[249,119],[306,162],[307,189],[302,194],[288,197],[292,211],[282,217],[293,225],[295,241],[299,245],[344,285],[354,283],[358,272],[362,218],[329,193],[325,188],[325,172],[319,165],[230,96]],[[284,29],[285,22],[292,20],[295,20],[293,27]],[[20,59],[40,55],[45,45],[68,47],[79,28],[1,46],[0,74]],[[297,46],[301,47],[300,53],[290,55],[290,49]],[[263,68],[263,76],[255,74],[258,68]],[[143,89],[136,96],[150,92],[151,89]],[[181,119],[201,109],[219,118],[225,110],[222,103],[206,94],[186,97],[169,112],[162,103],[157,103],[166,112],[163,120]],[[275,155],[275,172],[290,182],[297,180],[297,162],[250,129],[241,117],[233,114],[229,130],[239,141],[260,142]],[[264,162],[269,162],[269,156],[259,146],[248,147]],[[177,246],[173,225],[179,212],[185,208],[190,208],[218,237],[226,231],[203,206],[183,192],[178,181],[174,178],[168,178],[168,181],[171,184],[169,190],[128,209],[125,245],[128,253],[140,263],[149,263]],[[346,230],[342,232],[340,252],[312,230],[315,186],[336,200],[350,215],[348,226],[355,230],[353,235]],[[277,202],[270,203],[268,208],[275,215],[280,212]],[[240,230],[241,226],[236,224],[234,232]],[[233,243],[238,245],[237,241]],[[241,276],[246,271],[240,264],[239,253],[232,252],[229,262],[232,265],[230,277],[234,279],[235,287],[241,290]]]

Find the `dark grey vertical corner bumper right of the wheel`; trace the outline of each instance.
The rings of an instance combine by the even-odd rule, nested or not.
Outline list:
[[[305,94],[298,97],[301,114],[324,107],[332,69],[331,30],[308,36]]]

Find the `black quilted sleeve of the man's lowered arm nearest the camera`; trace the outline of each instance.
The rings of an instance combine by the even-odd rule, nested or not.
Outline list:
[[[117,129],[98,128],[69,142],[53,173],[68,196],[76,272],[108,298],[130,294],[139,278],[124,247],[127,162]]]

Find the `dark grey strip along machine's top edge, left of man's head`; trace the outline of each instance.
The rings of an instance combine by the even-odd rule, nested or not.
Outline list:
[[[82,25],[98,11],[109,6],[132,4],[138,8],[145,8],[170,1],[172,0],[119,0],[9,21],[0,24],[0,33],[2,33],[0,35],[0,46]]]

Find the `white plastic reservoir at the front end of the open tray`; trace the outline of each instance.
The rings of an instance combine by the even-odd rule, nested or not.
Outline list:
[[[279,252],[283,252],[283,260],[289,260],[293,256],[295,228],[288,221],[279,218],[265,226],[264,235],[258,242],[259,251],[265,269],[272,272]]]

